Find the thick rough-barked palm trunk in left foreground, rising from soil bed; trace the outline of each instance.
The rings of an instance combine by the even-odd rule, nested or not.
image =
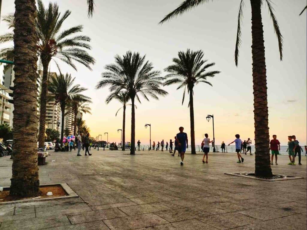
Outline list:
[[[15,0],[14,130],[11,196],[37,196],[37,36],[35,0]]]

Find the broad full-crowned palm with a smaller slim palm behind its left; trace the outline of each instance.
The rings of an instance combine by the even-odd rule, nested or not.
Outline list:
[[[154,71],[153,64],[145,62],[145,56],[140,56],[138,52],[132,54],[131,51],[127,51],[122,57],[116,55],[115,64],[108,64],[105,69],[107,71],[101,74],[102,80],[98,82],[96,89],[110,86],[109,97],[119,94],[122,90],[127,91],[132,105],[130,154],[135,154],[135,99],[140,102],[139,94],[147,101],[148,96],[158,100],[157,95],[167,95],[167,92],[161,89],[165,78],[160,76],[160,71]]]

